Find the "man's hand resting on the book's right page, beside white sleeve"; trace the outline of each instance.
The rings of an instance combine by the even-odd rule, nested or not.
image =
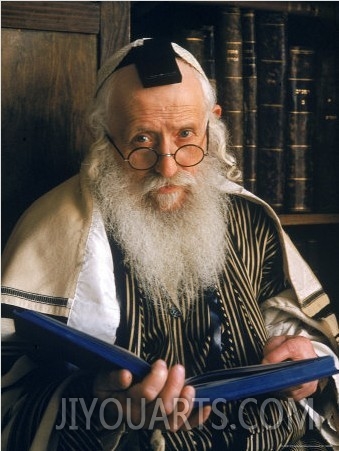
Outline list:
[[[284,360],[301,360],[317,357],[311,341],[300,335],[281,335],[272,337],[264,347],[262,363],[278,363]],[[318,381],[306,382],[297,387],[284,390],[284,393],[300,401],[313,395],[318,387]]]

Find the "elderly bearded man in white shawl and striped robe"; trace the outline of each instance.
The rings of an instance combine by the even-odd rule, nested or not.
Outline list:
[[[37,310],[152,369],[135,381],[126,369],[18,358],[3,381],[3,449],[339,445],[334,378],[217,408],[195,408],[185,385],[211,369],[337,352],[318,281],[270,207],[235,183],[220,116],[200,65],[175,44],[138,40],[99,72],[79,176],[33,204],[4,252],[5,329],[13,339],[13,306]]]

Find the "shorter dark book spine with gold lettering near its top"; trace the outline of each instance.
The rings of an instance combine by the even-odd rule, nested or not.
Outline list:
[[[287,89],[286,210],[313,209],[314,50],[289,49]]]

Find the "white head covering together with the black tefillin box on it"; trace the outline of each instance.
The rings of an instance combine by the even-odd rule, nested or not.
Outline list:
[[[181,83],[178,56],[206,78],[194,56],[177,44],[164,39],[139,39],[119,50],[103,65],[98,74],[97,92],[113,73],[132,64],[144,88]]]

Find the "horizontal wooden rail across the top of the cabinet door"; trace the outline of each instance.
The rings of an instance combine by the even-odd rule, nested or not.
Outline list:
[[[100,27],[100,3],[2,2],[1,26],[96,34]]]

